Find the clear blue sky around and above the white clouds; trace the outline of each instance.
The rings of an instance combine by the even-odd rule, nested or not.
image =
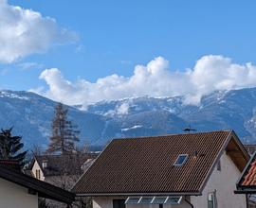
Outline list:
[[[169,61],[169,71],[179,72],[193,70],[196,61],[208,55],[230,58],[232,64],[256,62],[256,2],[252,0],[9,0],[6,4],[54,18],[57,26],[73,32],[76,38],[62,43],[53,40],[42,51],[2,61],[2,89],[47,90],[49,82],[39,76],[50,68],[58,68],[61,77],[74,85],[81,79],[95,83],[112,74],[130,78],[137,64],[146,65],[159,56]],[[244,85],[254,86],[251,82]],[[62,95],[60,98],[46,90],[41,93],[65,101]]]

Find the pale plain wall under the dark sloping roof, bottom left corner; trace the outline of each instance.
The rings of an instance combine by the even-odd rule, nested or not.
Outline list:
[[[37,195],[29,195],[27,188],[0,179],[1,208],[37,208]]]

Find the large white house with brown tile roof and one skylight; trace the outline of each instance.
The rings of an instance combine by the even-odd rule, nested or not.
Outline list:
[[[245,208],[248,159],[232,130],[115,139],[72,191],[93,208]]]

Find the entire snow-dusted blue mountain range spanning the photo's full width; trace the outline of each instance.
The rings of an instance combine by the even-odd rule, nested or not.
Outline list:
[[[70,107],[82,142],[103,146],[113,137],[180,133],[189,125],[198,131],[233,129],[246,143],[256,143],[256,88],[221,91],[202,98],[200,106],[183,97],[137,97],[101,101],[80,111]],[[56,102],[28,92],[0,91],[0,128],[14,127],[26,147],[46,147]]]

